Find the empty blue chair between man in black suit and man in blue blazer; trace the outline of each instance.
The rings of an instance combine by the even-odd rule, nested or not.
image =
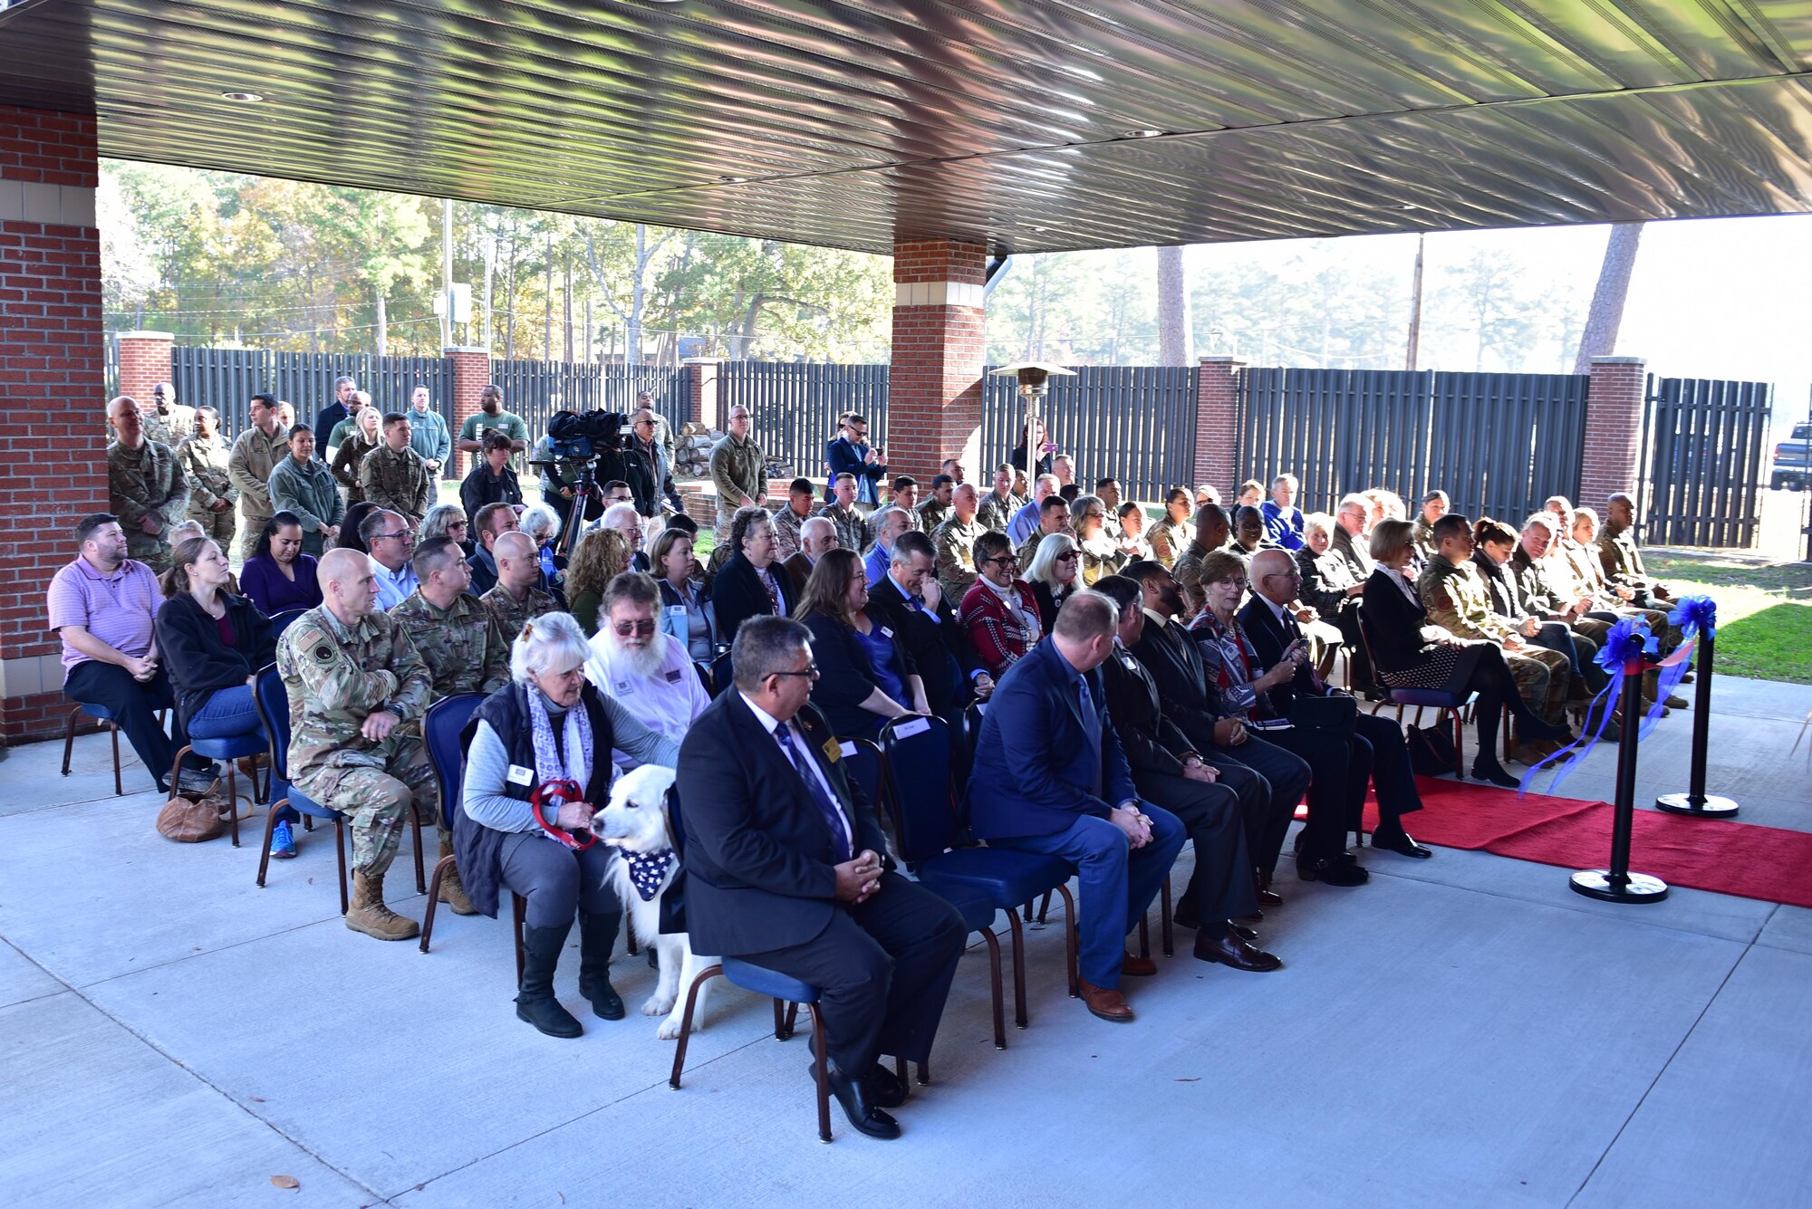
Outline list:
[[[924,726],[919,726],[919,724]],[[902,733],[911,731],[911,733]],[[1013,1023],[1026,1028],[1026,936],[1018,905],[1056,890],[1067,907],[1064,956],[1069,968],[1069,994],[1076,995],[1076,900],[1065,885],[1075,874],[1058,856],[1017,852],[1013,849],[953,847],[957,843],[957,802],[949,784],[949,728],[942,719],[893,719],[881,728],[886,757],[882,795],[893,818],[899,854],[926,889],[969,890],[984,896],[988,909],[1006,910],[1013,930]],[[989,923],[993,918],[989,916]],[[1000,948],[991,928],[980,928],[995,963],[995,1046],[1006,1048],[1000,1023]]]

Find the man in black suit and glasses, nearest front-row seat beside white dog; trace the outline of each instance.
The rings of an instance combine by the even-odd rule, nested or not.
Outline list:
[[[736,691],[680,746],[687,930],[699,952],[817,986],[837,1102],[859,1131],[897,1138],[886,1109],[906,1088],[877,1059],[930,1059],[968,928],[886,867],[837,737],[806,704],[810,637],[786,617],[745,621]]]

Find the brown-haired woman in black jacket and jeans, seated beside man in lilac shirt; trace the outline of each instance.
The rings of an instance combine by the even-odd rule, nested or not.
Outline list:
[[[170,599],[158,610],[158,652],[190,738],[255,735],[252,679],[277,657],[270,619],[225,590],[226,556],[208,538],[188,538],[170,559]]]

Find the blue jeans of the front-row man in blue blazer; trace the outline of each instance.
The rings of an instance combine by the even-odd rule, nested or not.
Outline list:
[[[1076,965],[1082,981],[1104,990],[1120,986],[1127,932],[1145,918],[1189,838],[1181,820],[1171,811],[1151,802],[1140,802],[1138,809],[1151,818],[1151,842],[1142,849],[1134,849],[1113,822],[1094,814],[1084,814],[1051,836],[988,842],[991,847],[1062,856],[1076,867],[1082,889],[1082,903],[1076,907]]]

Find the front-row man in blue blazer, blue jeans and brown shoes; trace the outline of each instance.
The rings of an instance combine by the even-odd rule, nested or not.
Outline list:
[[[969,775],[969,825],[997,847],[1060,856],[1082,883],[1082,1001],[1131,1023],[1120,976],[1149,976],[1125,952],[1183,847],[1176,814],[1140,798],[1109,720],[1096,671],[1114,650],[1114,603],[1082,590],[1064,601],[1040,643],[1007,668],[982,720]]]

